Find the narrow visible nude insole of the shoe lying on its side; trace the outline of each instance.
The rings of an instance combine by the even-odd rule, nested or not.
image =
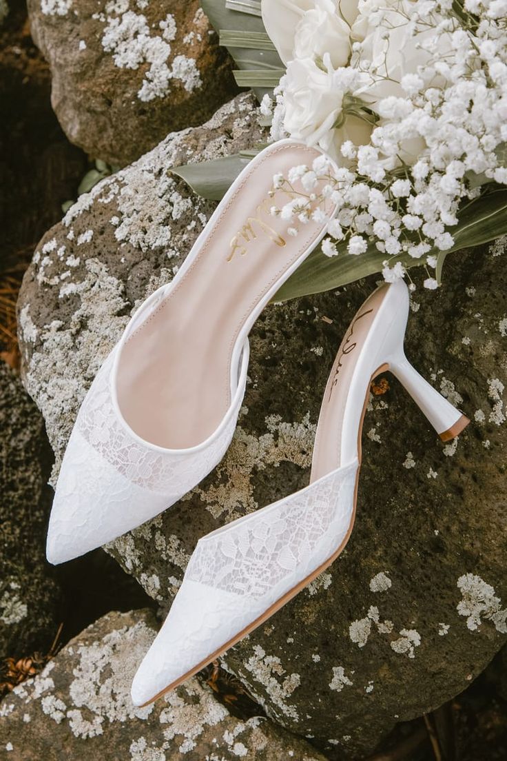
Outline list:
[[[340,349],[338,349],[318,418],[310,482],[314,482],[322,478],[322,476],[331,473],[332,470],[336,470],[337,467],[347,464],[342,462],[341,457],[345,408],[347,403],[362,405],[366,393],[369,391],[370,383],[369,377],[358,379],[358,382],[363,383],[364,389],[360,390],[358,394],[354,394],[352,399],[350,391],[353,372],[363,350],[366,337],[372,327],[373,320],[375,320],[387,292],[388,286],[382,286],[366,299],[350,323],[344,340],[341,342]],[[373,369],[375,370],[376,368]],[[362,408],[359,409],[358,407],[356,415],[358,427],[360,425],[361,413]],[[353,437],[354,445],[359,433],[358,427],[356,431],[349,432]]]

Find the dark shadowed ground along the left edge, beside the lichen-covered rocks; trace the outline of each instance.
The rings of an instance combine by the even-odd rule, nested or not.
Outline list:
[[[87,160],[68,142],[51,108],[49,67],[30,37],[26,6],[10,6],[0,24],[0,291],[6,329],[0,330],[0,358],[15,366],[16,288],[36,241],[62,217],[62,203],[75,196]]]

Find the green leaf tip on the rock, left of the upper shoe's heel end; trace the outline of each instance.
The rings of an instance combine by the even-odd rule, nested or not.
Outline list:
[[[185,180],[198,196],[210,201],[220,201],[248,163],[249,158],[233,155],[214,161],[202,161],[199,164],[185,164],[183,167],[171,169],[170,172]]]

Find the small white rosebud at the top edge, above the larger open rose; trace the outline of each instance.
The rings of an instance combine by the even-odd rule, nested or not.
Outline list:
[[[329,53],[335,68],[350,58],[350,26],[337,14],[334,0],[316,0],[296,27],[294,58],[320,58]]]

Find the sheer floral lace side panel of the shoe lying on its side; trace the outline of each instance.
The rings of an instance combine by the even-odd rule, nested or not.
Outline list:
[[[350,525],[358,464],[240,518],[198,542],[185,579],[255,599],[285,578],[303,581],[338,548]]]

